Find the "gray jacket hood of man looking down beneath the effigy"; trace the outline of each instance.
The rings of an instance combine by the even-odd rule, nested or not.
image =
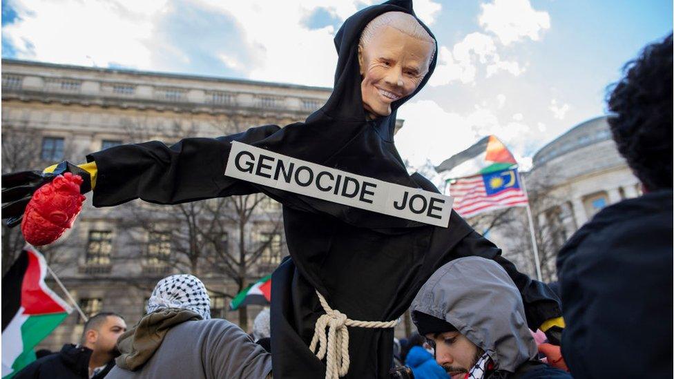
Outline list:
[[[517,286],[493,260],[463,257],[445,264],[421,287],[412,311],[452,324],[489,354],[496,369],[514,372],[537,356]]]

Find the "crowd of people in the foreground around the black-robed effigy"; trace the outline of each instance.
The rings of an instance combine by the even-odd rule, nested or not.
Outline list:
[[[647,46],[608,96],[613,138],[644,195],[600,211],[559,251],[564,329],[543,341],[503,266],[484,257],[436,270],[412,302],[417,333],[397,341],[395,378],[664,378],[672,356],[673,40]],[[15,378],[271,378],[269,311],[248,334],[211,319],[204,284],[160,280],[130,329],[117,313]],[[536,328],[533,328],[536,329]],[[541,328],[542,329],[542,328]],[[560,350],[561,349],[561,350]]]

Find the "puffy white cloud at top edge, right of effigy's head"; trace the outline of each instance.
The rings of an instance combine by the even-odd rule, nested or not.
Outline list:
[[[525,37],[538,41],[550,28],[550,14],[532,8],[529,0],[494,0],[481,5],[480,26],[499,37],[503,45]]]

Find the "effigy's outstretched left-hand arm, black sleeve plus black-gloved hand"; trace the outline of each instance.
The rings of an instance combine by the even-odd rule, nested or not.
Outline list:
[[[8,173],[2,175],[2,218],[8,226],[21,223],[33,195],[66,173],[81,177],[81,194],[93,189],[95,206],[114,206],[137,198],[177,204],[256,193],[259,189],[255,186],[224,176],[231,142],[264,142],[278,130],[278,126],[267,125],[227,137],[186,138],[173,146],[156,141],[121,145],[90,154],[88,163],[79,166],[61,162],[44,171]]]

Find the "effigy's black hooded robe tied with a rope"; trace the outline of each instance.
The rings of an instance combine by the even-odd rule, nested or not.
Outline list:
[[[392,0],[345,21],[335,37],[339,57],[334,91],[304,123],[260,126],[215,139],[187,138],[171,147],[161,142],[115,146],[87,157],[98,168],[95,206],[136,198],[177,204],[257,192],[282,203],[291,259],[284,260],[272,278],[271,347],[277,378],[325,377],[325,364],[308,347],[314,324],[324,313],[314,289],[352,320],[394,320],[435,269],[456,257],[497,260],[521,291],[532,329],[561,315],[552,291],[519,273],[456,213],[452,212],[449,227],[441,228],[224,176],[230,143],[238,141],[349,173],[437,191],[421,175],[407,174],[393,142],[396,109],[424,86],[437,53],[415,93],[395,101],[391,115],[367,121],[363,109],[358,39],[369,21],[390,11],[414,14],[411,1]],[[349,336],[351,365],[346,377],[387,378],[393,329],[349,328]]]

